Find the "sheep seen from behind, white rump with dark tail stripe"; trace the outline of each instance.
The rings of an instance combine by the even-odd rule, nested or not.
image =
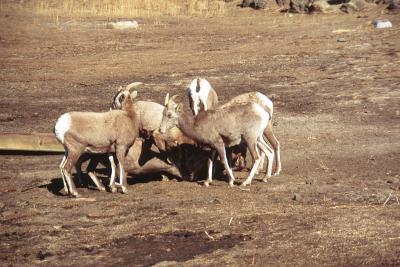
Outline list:
[[[194,115],[200,110],[209,110],[217,106],[218,95],[211,84],[203,78],[194,79],[189,85],[189,103]]]

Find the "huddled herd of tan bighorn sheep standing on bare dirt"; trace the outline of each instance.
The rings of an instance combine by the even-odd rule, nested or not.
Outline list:
[[[177,95],[167,94],[164,106],[136,101],[138,93],[131,89],[141,84],[120,87],[107,112],[68,112],[58,118],[54,134],[65,149],[60,170],[64,190],[70,196],[79,196],[71,171],[76,168],[81,183],[82,163],[86,160],[87,174],[99,190],[106,190],[95,174],[101,162],[111,168],[110,191],[120,188],[122,193],[127,193],[128,173],[168,173],[192,180],[201,163],[206,162],[208,177],[204,185],[209,186],[217,155],[229,185],[234,186],[232,168],[244,168],[247,150],[252,167],[241,186],[251,184],[254,175],[263,169],[265,157],[263,181],[271,177],[274,159],[273,174],[281,172],[280,144],[272,130],[273,103],[264,94],[244,93],[219,105],[210,83],[196,78],[188,87],[190,113],[175,102]],[[197,169],[190,169],[190,162]]]

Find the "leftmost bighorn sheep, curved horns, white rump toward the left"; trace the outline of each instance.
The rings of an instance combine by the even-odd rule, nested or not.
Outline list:
[[[121,91],[119,98],[122,104],[121,110],[104,113],[69,112],[57,120],[54,133],[65,149],[60,170],[64,189],[70,195],[78,196],[71,177],[71,169],[79,157],[84,152],[109,153],[113,149],[119,162],[122,192],[127,192],[125,155],[135,142],[139,131],[137,115],[133,110],[133,99],[137,96],[137,92],[130,93],[129,89],[139,84],[141,83],[133,83]]]

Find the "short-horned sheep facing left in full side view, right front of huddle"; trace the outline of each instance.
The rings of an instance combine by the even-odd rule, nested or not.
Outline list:
[[[269,154],[262,135],[270,120],[268,112],[256,103],[232,105],[224,109],[203,111],[198,116],[182,112],[182,105],[173,99],[176,95],[165,98],[165,109],[160,126],[160,132],[177,126],[188,137],[197,143],[215,149],[229,175],[229,185],[233,186],[235,178],[228,164],[225,147],[238,145],[242,140],[247,144],[253,158],[253,166],[242,185],[251,183],[260,163],[259,149]],[[212,158],[209,159],[209,176],[205,182],[208,186],[212,181]]]

